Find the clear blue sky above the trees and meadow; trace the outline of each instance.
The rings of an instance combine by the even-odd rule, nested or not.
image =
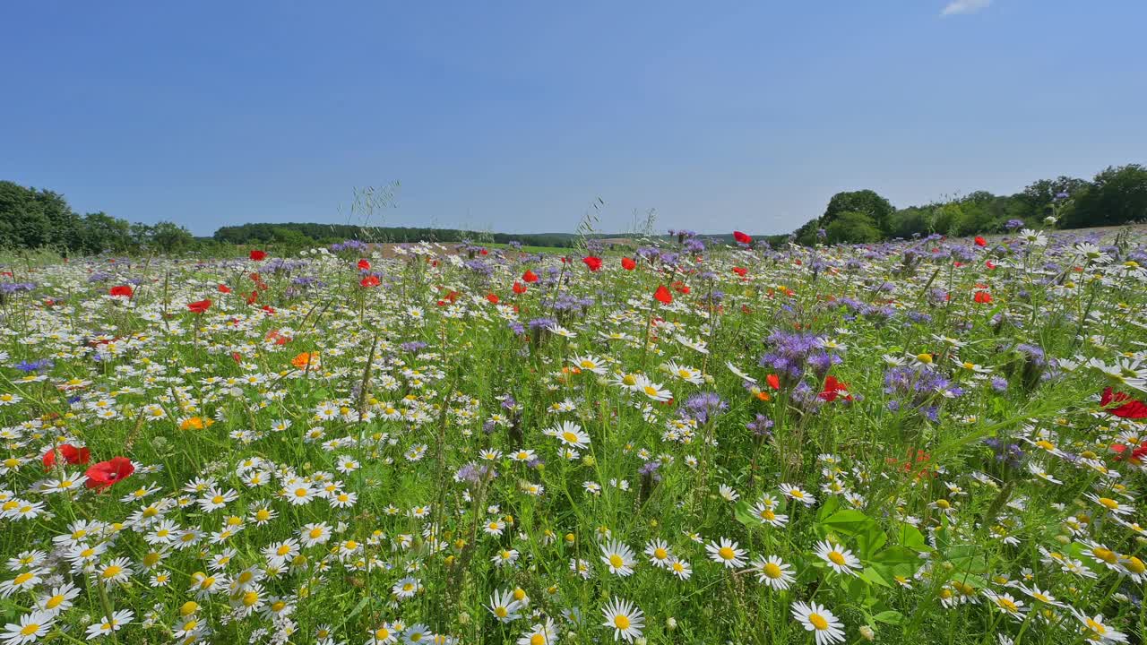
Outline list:
[[[945,7],[949,15],[943,15]],[[0,179],[80,211],[787,232],[1147,161],[1142,0],[11,2]]]

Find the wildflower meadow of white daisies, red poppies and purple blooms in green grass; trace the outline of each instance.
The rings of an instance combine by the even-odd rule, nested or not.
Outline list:
[[[1140,642],[1142,233],[736,240],[5,266],[0,643]]]

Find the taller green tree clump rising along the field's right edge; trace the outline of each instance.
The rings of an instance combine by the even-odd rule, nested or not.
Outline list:
[[[1085,228],[1145,220],[1147,168],[1128,164],[1109,166],[1091,181],[1061,176],[1035,181],[1014,195],[976,191],[903,209],[894,208],[873,191],[837,193],[824,215],[794,234],[802,244],[859,243],[930,233],[955,236],[999,233],[1017,226]]]

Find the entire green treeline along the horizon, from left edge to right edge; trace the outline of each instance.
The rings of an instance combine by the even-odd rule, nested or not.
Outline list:
[[[876,242],[939,233],[973,235],[1016,226],[1080,228],[1147,220],[1147,168],[1110,166],[1093,179],[1058,177],[1035,181],[1014,195],[976,191],[927,205],[896,209],[874,191],[833,195],[824,215],[791,235],[763,235],[777,244],[794,239],[817,242]],[[598,234],[599,239],[629,238]],[[658,236],[666,238],[668,236]],[[729,233],[703,235],[710,243],[733,243]],[[106,212],[80,215],[63,195],[0,181],[0,249],[52,248],[63,254],[226,252],[233,244],[276,244],[286,248],[361,240],[366,242],[434,241],[509,243],[569,248],[572,233],[485,233],[458,228],[354,226],[343,224],[242,224],[224,226],[211,238],[195,238],[172,222],[130,223]]]

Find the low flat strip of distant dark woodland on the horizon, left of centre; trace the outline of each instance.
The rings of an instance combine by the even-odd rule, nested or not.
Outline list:
[[[571,233],[484,233],[458,228],[423,228],[409,226],[356,226],[349,224],[241,224],[224,226],[214,232],[217,242],[232,244],[287,246],[314,244],[342,240],[367,242],[518,242],[531,247],[572,247],[576,236]]]

